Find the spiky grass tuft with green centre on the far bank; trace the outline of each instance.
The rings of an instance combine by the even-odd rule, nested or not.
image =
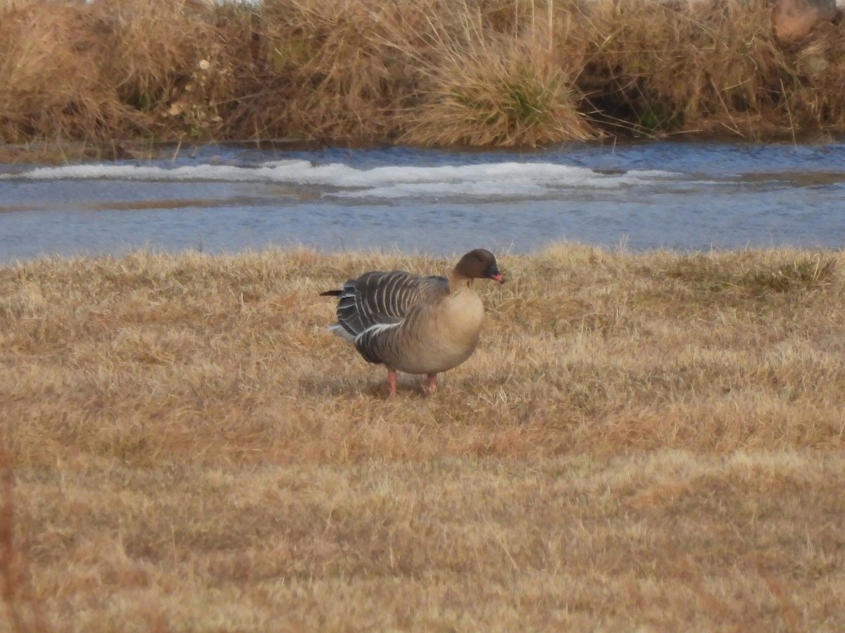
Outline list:
[[[529,35],[467,26],[428,68],[421,106],[402,140],[417,145],[534,146],[596,136],[578,112],[570,65],[539,26]]]

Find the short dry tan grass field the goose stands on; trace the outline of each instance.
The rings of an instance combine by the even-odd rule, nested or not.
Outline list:
[[[391,401],[318,292],[450,260],[0,269],[0,630],[845,630],[840,254],[498,255]]]

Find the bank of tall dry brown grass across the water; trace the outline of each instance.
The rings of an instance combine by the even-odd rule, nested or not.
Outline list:
[[[0,142],[842,133],[845,25],[781,47],[767,5],[5,0]]]

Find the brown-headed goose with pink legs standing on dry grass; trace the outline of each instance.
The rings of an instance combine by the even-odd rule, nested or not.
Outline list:
[[[337,323],[328,330],[352,342],[368,363],[387,367],[391,398],[400,371],[426,374],[431,395],[437,374],[466,361],[478,344],[484,306],[472,287],[476,279],[504,283],[484,248],[461,257],[448,278],[373,270],[320,296],[339,297]]]

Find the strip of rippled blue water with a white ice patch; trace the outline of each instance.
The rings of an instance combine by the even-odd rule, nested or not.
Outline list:
[[[845,143],[532,152],[213,145],[157,161],[0,166],[0,263],[303,244],[455,254],[845,245]]]

